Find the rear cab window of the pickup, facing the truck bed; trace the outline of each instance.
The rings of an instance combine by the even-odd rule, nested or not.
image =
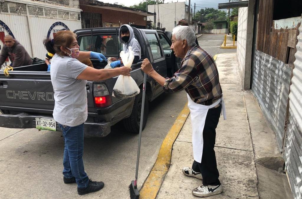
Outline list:
[[[118,42],[115,34],[89,35],[79,37],[80,51],[94,51],[105,56],[118,55]]]

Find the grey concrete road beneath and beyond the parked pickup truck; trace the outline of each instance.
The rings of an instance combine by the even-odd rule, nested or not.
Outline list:
[[[223,35],[202,35],[199,45],[212,56],[236,52],[220,49]],[[142,133],[139,182],[152,167],[169,129],[185,106],[185,91],[162,95],[149,104],[149,117]],[[76,184],[63,183],[64,142],[60,132],[0,128],[0,198],[100,198],[129,196],[134,179],[138,135],[125,132],[121,124],[104,138],[84,140],[84,166],[89,178],[104,181],[101,191],[79,196]]]

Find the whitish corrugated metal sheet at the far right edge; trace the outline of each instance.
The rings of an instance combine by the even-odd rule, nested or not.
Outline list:
[[[299,32],[289,94],[289,117],[284,147],[286,169],[295,198],[302,197],[302,26]]]

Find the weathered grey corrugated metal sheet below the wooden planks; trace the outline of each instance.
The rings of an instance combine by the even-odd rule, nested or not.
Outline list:
[[[252,91],[276,133],[280,151],[291,81],[291,66],[255,50]]]

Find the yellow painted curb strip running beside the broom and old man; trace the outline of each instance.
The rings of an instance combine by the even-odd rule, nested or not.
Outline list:
[[[140,189],[140,199],[154,199],[162,185],[162,181],[165,178],[166,173],[169,170],[172,155],[172,146],[182,130],[185,121],[190,114],[188,103],[182,109],[178,117],[176,118],[173,126],[169,130],[167,136],[162,142],[162,146],[159,149],[159,153],[156,162],[149,173],[148,178],[144,182]]]

